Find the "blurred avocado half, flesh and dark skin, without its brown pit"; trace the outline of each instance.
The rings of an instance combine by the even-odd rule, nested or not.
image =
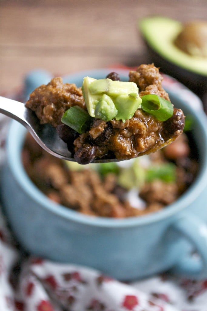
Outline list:
[[[175,77],[200,97],[207,92],[207,58],[192,56],[175,45],[181,22],[162,16],[143,18],[138,29],[160,71]]]

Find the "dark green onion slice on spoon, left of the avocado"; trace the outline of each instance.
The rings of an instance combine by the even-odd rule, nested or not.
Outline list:
[[[92,117],[81,107],[73,106],[65,111],[61,121],[74,131],[82,134],[89,130]]]

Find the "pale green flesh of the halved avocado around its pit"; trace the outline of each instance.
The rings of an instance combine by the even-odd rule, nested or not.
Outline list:
[[[157,54],[179,67],[207,77],[207,59],[188,55],[174,44],[182,30],[179,21],[161,16],[147,17],[141,20],[138,27],[147,44]]]

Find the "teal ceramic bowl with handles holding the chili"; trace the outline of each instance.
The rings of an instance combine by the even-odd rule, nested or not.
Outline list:
[[[84,76],[103,78],[110,71],[79,72],[64,77],[64,81],[80,86]],[[126,71],[116,71],[127,80]],[[92,217],[49,200],[31,182],[21,162],[26,130],[11,122],[1,195],[16,239],[27,252],[93,267],[119,280],[134,280],[168,269],[192,278],[207,277],[207,118],[199,105],[195,109],[186,100],[188,90],[178,94],[174,86],[165,86],[173,104],[194,118],[192,135],[200,169],[196,181],[176,202],[146,216]],[[192,251],[198,256],[192,257]]]

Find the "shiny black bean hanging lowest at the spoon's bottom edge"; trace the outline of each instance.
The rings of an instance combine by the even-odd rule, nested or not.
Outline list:
[[[74,159],[79,164],[88,164],[96,157],[96,146],[85,144],[74,153]]]

